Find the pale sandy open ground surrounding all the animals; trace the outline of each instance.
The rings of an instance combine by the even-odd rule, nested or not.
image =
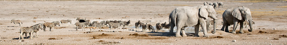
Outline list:
[[[253,21],[253,32],[232,34],[217,30],[215,34],[208,32],[210,37],[193,37],[193,33],[187,33],[188,37],[174,37],[168,32],[136,32],[132,26],[140,20],[141,22],[156,25],[156,23],[168,22],[169,13],[176,7],[203,5],[205,1],[0,1],[0,45],[20,44],[51,44],[51,45],[286,45],[287,38],[279,35],[287,35],[287,2],[261,2],[243,3],[232,1],[206,1],[223,2],[224,8],[215,9],[218,18],[222,20],[222,13],[227,8],[238,6],[248,7],[251,10]],[[63,16],[64,14],[65,16]],[[130,16],[124,18],[125,16]],[[32,22],[34,17],[36,23]],[[106,20],[131,20],[129,29],[119,29],[122,32],[107,32],[105,27],[95,29],[96,32],[75,31],[76,18],[86,18],[92,21]],[[54,22],[60,20],[72,20],[68,25],[56,26],[53,31],[39,31],[39,37],[23,39],[19,42],[19,24],[13,27],[11,20],[21,20],[21,27],[30,27],[37,23]],[[218,21],[218,28],[221,29],[222,21]],[[120,27],[122,28],[122,27]],[[49,29],[47,29],[49,30]],[[116,31],[116,29],[112,29]],[[231,28],[230,28],[231,30]],[[239,28],[237,28],[237,31]],[[264,31],[259,33],[259,31]],[[266,33],[265,33],[266,32]],[[102,35],[104,33],[104,35]],[[139,34],[130,35],[130,34]],[[107,35],[105,35],[107,34]],[[249,35],[248,35],[249,34]],[[142,37],[144,36],[144,37]],[[146,36],[146,37],[145,37]],[[220,36],[218,38],[214,38]],[[49,40],[55,38],[55,40]],[[276,40],[279,39],[279,40]],[[100,41],[102,40],[102,41]],[[237,42],[232,42],[236,40]]]

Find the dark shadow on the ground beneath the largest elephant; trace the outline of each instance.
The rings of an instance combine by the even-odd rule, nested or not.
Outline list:
[[[174,35],[170,35],[169,32],[147,32],[147,33],[153,33],[150,34],[150,36],[166,36],[166,37],[174,37]],[[185,33],[187,35],[187,37],[193,37],[194,33]],[[182,35],[182,33],[180,33],[180,35]]]

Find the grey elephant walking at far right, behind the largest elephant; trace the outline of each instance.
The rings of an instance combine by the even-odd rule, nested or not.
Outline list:
[[[243,24],[245,20],[249,22],[250,29],[248,29],[248,31],[249,32],[253,31],[253,28],[252,28],[253,20],[252,20],[250,9],[247,7],[228,8],[223,12],[222,19],[223,19],[223,25],[222,25],[222,28],[220,29],[222,31],[224,31],[224,28],[225,28],[225,32],[229,32],[228,26],[233,25],[233,29],[231,33],[236,33],[235,29],[237,28],[238,23],[240,23],[239,33],[244,33],[242,29],[243,29]]]

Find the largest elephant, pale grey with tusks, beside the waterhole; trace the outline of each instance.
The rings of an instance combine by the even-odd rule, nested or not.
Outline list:
[[[208,17],[213,20],[220,20],[216,18],[216,12],[211,5],[199,5],[195,7],[177,7],[169,15],[170,22],[170,35],[173,33],[173,28],[177,26],[177,32],[175,37],[187,37],[185,34],[185,27],[195,25],[195,37],[199,37],[199,26],[203,29],[203,37],[209,37],[206,30],[206,22],[209,21]],[[208,20],[208,21],[207,21]],[[216,25],[216,23],[214,23]],[[216,27],[214,27],[215,33]],[[180,31],[183,36],[180,35]]]

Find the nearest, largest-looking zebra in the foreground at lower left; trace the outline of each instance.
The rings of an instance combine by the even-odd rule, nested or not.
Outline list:
[[[20,28],[19,40],[21,40],[21,39],[20,39],[21,36],[22,36],[22,39],[24,39],[24,36],[23,36],[24,33],[30,33],[30,38],[33,39],[33,32],[35,32],[35,30],[38,31],[39,28],[40,28],[40,29],[43,29],[41,23],[39,23],[39,24],[37,24],[37,25],[34,25],[34,26],[31,26],[31,27],[21,27],[21,28]],[[26,34],[26,35],[27,35],[27,34]],[[37,33],[36,33],[36,35],[37,35]]]

